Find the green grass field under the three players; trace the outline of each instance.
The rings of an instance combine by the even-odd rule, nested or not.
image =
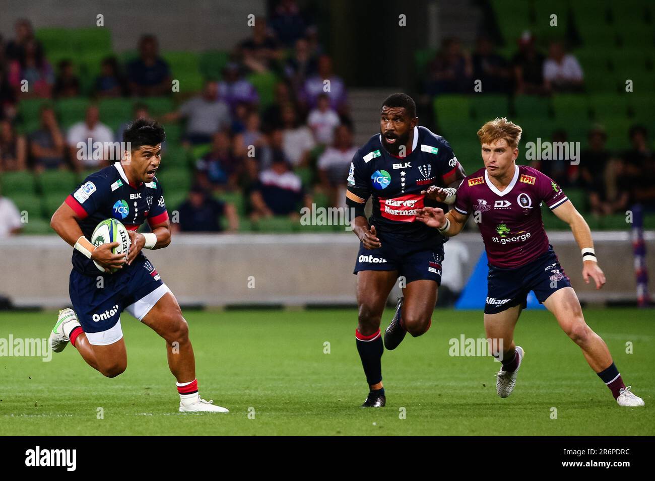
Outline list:
[[[386,310],[384,326],[391,315]],[[586,310],[624,380],[646,402],[633,409],[614,402],[580,349],[543,311],[523,312],[517,326],[527,355],[512,397],[496,396],[500,364],[491,357],[449,355],[449,339],[484,336],[481,312],[436,310],[427,334],[407,336],[384,353],[383,409],[359,407],[367,387],[355,347],[355,310],[187,311],[185,317],[200,393],[230,414],[179,414],[164,341],[124,313],[128,368],[117,378],[103,378],[71,346],[50,362],[0,357],[2,434],[655,434],[652,311]],[[54,312],[0,313],[0,338],[47,337],[55,319]],[[626,353],[626,342],[633,353]],[[101,407],[104,418],[97,419]]]

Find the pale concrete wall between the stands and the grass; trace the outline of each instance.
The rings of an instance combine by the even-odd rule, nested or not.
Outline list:
[[[482,251],[477,233],[453,238],[466,245],[468,277]],[[595,291],[580,276],[580,251],[571,232],[553,232],[551,243],[584,302],[635,300],[632,247],[627,232],[595,232],[595,250],[607,285]],[[648,268],[655,272],[655,232],[646,232]],[[448,243],[445,244],[446,256]],[[354,304],[354,234],[212,234],[174,237],[166,249],[147,251],[181,304]],[[72,249],[56,236],[0,240],[0,295],[16,306],[69,305]],[[252,279],[250,279],[252,276]],[[254,289],[248,287],[254,281]],[[252,285],[252,283],[251,283]],[[655,289],[651,289],[655,291]]]

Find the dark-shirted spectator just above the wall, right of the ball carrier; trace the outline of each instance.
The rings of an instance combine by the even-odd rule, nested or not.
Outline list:
[[[179,223],[171,224],[173,232],[221,232],[223,216],[227,217],[230,232],[236,232],[239,226],[234,205],[212,197],[200,185],[191,188],[178,213]]]

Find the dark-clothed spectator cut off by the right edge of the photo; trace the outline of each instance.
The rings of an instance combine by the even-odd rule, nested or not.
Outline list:
[[[635,125],[629,130],[632,148],[625,152],[624,171],[629,179],[632,196],[630,202],[637,202],[646,211],[655,211],[655,154],[648,144],[648,131],[644,126]]]

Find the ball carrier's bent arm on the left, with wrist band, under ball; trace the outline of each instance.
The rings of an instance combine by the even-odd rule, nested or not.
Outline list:
[[[59,234],[60,238],[64,239],[67,243],[75,247],[78,251],[86,255],[91,260],[95,260],[105,269],[109,268],[122,268],[125,263],[125,256],[121,254],[111,253],[111,249],[118,247],[118,242],[111,242],[108,244],[95,247],[84,234],[77,223],[79,217],[71,207],[65,202],[52,214],[50,219],[50,227],[54,232]]]

